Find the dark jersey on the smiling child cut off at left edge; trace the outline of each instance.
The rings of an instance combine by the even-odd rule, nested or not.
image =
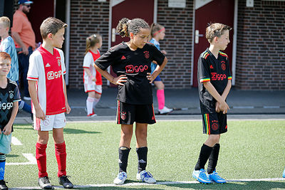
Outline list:
[[[11,118],[13,102],[21,100],[18,85],[7,78],[6,88],[0,88],[0,127],[1,131],[7,125]],[[13,131],[13,127],[12,127]]]

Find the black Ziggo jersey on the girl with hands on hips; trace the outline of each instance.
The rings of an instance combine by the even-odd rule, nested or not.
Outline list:
[[[110,48],[95,60],[95,64],[102,70],[111,65],[116,75],[128,77],[125,85],[118,85],[118,100],[133,105],[145,105],[152,104],[152,86],[150,80],[147,80],[147,73],[151,73],[150,64],[155,60],[161,65],[164,59],[165,56],[151,43],[131,51],[123,42]]]

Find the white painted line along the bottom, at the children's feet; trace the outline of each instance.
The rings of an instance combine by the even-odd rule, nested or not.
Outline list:
[[[265,178],[265,179],[230,179],[227,180],[228,183],[230,182],[249,182],[249,181],[284,181],[284,178]],[[89,184],[89,185],[75,185],[74,188],[90,188],[90,187],[103,187],[103,186],[114,186],[114,187],[123,187],[123,186],[153,186],[153,185],[171,185],[171,184],[199,184],[198,181],[161,181],[157,182],[156,184],[146,184],[146,183],[127,183],[123,185],[115,185],[115,184]],[[63,186],[53,186],[58,189],[63,189]],[[39,186],[26,186],[26,187],[15,187],[9,188],[11,190],[16,189],[41,189]]]

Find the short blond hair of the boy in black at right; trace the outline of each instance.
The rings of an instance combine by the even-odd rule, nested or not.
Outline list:
[[[220,37],[224,34],[224,31],[232,30],[231,27],[223,23],[209,23],[209,26],[206,28],[206,39],[209,43],[212,43],[214,37]]]

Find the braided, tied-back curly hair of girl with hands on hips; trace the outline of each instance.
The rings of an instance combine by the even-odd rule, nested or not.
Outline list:
[[[123,37],[130,37],[130,33],[137,34],[140,32],[140,28],[150,28],[148,23],[143,19],[120,19],[116,32]]]

